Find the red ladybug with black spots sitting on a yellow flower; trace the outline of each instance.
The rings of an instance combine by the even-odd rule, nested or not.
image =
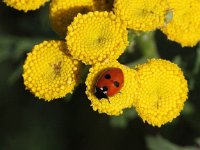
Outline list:
[[[124,74],[119,68],[105,70],[95,85],[95,96],[98,99],[117,94],[124,84]]]

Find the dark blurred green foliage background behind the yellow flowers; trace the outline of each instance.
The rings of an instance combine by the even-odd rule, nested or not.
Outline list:
[[[23,13],[0,2],[0,150],[200,150],[200,46],[182,48],[160,31],[129,35],[119,61],[131,67],[147,58],[177,63],[189,82],[181,115],[161,128],[132,110],[109,117],[94,112],[85,85],[52,102],[25,91],[22,66],[26,53],[48,39],[59,39],[48,20],[48,4]]]

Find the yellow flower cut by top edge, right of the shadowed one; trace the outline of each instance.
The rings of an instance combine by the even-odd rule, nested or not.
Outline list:
[[[150,31],[165,23],[167,0],[115,0],[114,12],[127,21],[128,28]]]

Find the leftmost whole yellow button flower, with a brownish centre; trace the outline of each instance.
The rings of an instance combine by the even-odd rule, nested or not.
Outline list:
[[[79,82],[81,64],[66,52],[63,41],[35,45],[24,64],[26,89],[47,101],[71,93]]]

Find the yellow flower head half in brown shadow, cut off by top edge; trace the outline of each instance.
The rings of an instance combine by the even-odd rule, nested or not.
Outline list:
[[[49,18],[52,28],[60,36],[65,37],[67,26],[78,13],[85,14],[93,10],[93,0],[52,0]]]

